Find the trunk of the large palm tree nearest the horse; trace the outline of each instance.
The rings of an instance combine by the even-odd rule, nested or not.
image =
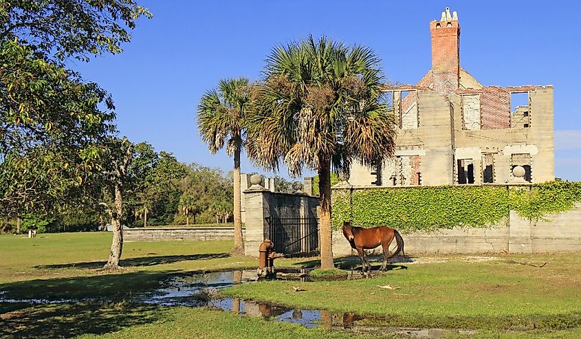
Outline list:
[[[333,265],[333,248],[331,245],[331,160],[319,160],[319,234],[321,269],[331,270]]]

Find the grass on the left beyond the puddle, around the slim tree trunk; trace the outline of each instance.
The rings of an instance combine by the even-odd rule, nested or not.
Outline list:
[[[124,243],[121,272],[102,272],[111,232],[39,234],[36,239],[0,237],[0,291],[14,298],[123,296],[188,272],[254,268],[256,259],[231,256],[232,241]],[[278,259],[292,265],[295,260]]]

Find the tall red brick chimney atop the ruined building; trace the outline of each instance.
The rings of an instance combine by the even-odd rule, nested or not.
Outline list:
[[[460,76],[460,25],[458,14],[450,8],[442,12],[440,21],[430,22],[432,35],[432,75],[434,89],[448,95],[458,89]]]

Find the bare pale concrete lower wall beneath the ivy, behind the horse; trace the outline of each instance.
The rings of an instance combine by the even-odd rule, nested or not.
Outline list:
[[[402,237],[406,254],[581,252],[581,204],[536,223],[519,217],[512,210],[506,223],[493,228],[412,232]],[[392,243],[392,251],[394,247]],[[342,232],[334,231],[333,255],[350,254],[351,246]]]

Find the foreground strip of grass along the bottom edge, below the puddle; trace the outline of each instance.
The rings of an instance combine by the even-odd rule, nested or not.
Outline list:
[[[340,318],[331,318],[322,328],[305,329],[300,325],[267,321],[263,318],[239,317],[236,314],[186,307],[155,307],[131,303],[103,305],[46,305],[12,311],[0,320],[0,337],[6,338],[401,338],[373,331],[355,335],[327,331],[341,327]],[[467,338],[447,334],[442,338]],[[477,331],[472,338],[581,338],[581,328],[558,331],[531,330],[507,332]]]

